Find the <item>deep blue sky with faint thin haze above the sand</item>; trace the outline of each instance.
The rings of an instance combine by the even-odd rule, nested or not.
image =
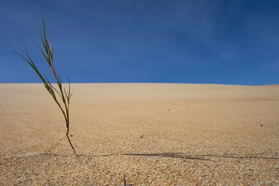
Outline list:
[[[279,84],[277,0],[1,0],[0,83],[41,83],[24,46],[51,77],[30,38],[42,9],[71,83]]]

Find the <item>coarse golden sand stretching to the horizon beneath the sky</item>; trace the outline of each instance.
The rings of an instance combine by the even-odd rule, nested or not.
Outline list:
[[[76,156],[44,153],[66,124],[42,84],[0,84],[0,185],[279,185],[278,85],[72,87]]]

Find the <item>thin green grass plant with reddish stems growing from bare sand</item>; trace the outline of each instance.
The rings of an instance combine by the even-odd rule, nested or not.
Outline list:
[[[70,82],[69,82],[69,78],[66,76],[66,74],[65,74],[65,76],[67,77],[67,80],[69,82],[69,92],[66,92],[66,90],[65,90],[65,85],[66,85],[67,82],[64,84],[64,86],[62,86],[60,74],[59,74],[58,70],[57,70],[57,73],[56,73],[56,71],[54,69],[54,66],[53,66],[53,52],[52,52],[52,47],[51,47],[51,41],[50,41],[50,38],[49,38],[49,31],[48,31],[48,37],[47,37],[47,33],[46,33],[46,29],[45,29],[46,22],[44,21],[43,13],[44,12],[42,12],[42,15],[41,15],[42,22],[43,22],[43,29],[41,29],[35,23],[33,23],[33,22],[31,22],[31,23],[35,24],[39,28],[38,32],[40,34],[42,43],[44,45],[45,53],[37,45],[37,43],[33,40],[32,36],[31,35],[30,36],[31,36],[31,39],[33,40],[33,42],[36,44],[36,46],[40,49],[40,51],[44,55],[44,58],[46,58],[46,60],[47,60],[47,62],[49,64],[49,67],[51,68],[51,71],[53,73],[53,76],[56,79],[56,83],[57,83],[57,85],[59,87],[59,91],[57,91],[57,89],[49,82],[48,78],[45,75],[43,77],[42,74],[39,72],[39,70],[37,69],[37,67],[35,66],[33,61],[31,60],[31,58],[29,57],[29,55],[27,53],[27,50],[26,50],[26,47],[25,47],[25,51],[26,51],[26,54],[28,56],[28,59],[24,58],[22,55],[20,55],[19,53],[15,52],[15,51],[12,51],[12,52],[14,52],[14,53],[18,54],[19,56],[21,56],[35,70],[35,72],[38,74],[38,76],[43,81],[44,87],[51,94],[52,98],[54,99],[54,101],[57,103],[57,105],[61,109],[61,111],[63,113],[63,116],[65,117],[65,121],[66,121],[66,134],[65,134],[65,136],[61,140],[63,140],[67,136],[67,138],[69,140],[69,143],[70,143],[70,145],[71,145],[71,147],[74,150],[74,153],[76,155],[76,151],[75,151],[75,149],[74,149],[73,145],[71,144],[71,141],[70,141],[70,139],[68,137],[68,134],[69,134],[69,104],[70,104],[70,98],[71,98],[71,95],[73,94],[73,92],[70,94]],[[64,90],[64,92],[63,92],[63,90]],[[59,94],[60,98],[62,99],[62,102],[63,102],[62,106],[63,107],[65,106],[65,110],[62,109],[62,106],[58,102],[55,92],[57,92]],[[57,145],[57,144],[55,144],[55,145]],[[54,146],[52,146],[51,148],[53,148]],[[49,149],[51,149],[51,148],[49,148]]]

